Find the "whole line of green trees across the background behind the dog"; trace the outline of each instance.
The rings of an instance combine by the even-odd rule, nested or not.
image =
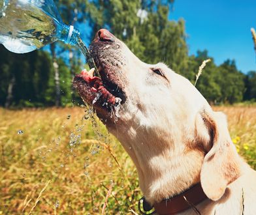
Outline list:
[[[166,63],[192,83],[202,61],[211,59],[197,89],[212,104],[256,100],[256,71],[244,74],[234,60],[217,66],[207,50],[188,55],[184,20],[168,20],[172,0],[57,1],[65,23],[86,22],[89,40],[107,28],[146,63]],[[248,38],[249,39],[249,38]],[[252,45],[253,48],[253,45]],[[72,77],[84,65],[76,48],[55,43],[24,55],[0,46],[0,106],[66,106],[80,104],[72,89]]]

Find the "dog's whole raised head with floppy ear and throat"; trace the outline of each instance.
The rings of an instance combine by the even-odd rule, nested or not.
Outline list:
[[[74,87],[133,158],[142,191],[159,195],[156,201],[168,197],[154,190],[168,183],[170,160],[198,151],[202,158],[189,183],[200,177],[206,195],[219,199],[239,175],[225,117],[212,111],[187,79],[163,63],[143,63],[105,29],[97,33],[90,51],[101,78],[82,72],[74,78]],[[156,180],[161,180],[159,187],[153,185]],[[171,191],[166,192],[163,195]]]

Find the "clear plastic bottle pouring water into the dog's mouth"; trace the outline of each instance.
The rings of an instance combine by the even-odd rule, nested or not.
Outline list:
[[[97,74],[80,33],[62,22],[54,1],[0,0],[0,44],[7,50],[27,53],[57,40],[78,46]]]

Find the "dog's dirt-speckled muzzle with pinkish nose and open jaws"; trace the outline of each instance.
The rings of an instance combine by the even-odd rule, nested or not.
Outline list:
[[[83,70],[73,80],[74,88],[86,104],[93,106],[100,119],[112,118],[112,113],[125,103],[124,79],[122,74],[123,59],[119,40],[106,29],[95,35],[90,48],[99,77],[94,76],[94,69]]]

